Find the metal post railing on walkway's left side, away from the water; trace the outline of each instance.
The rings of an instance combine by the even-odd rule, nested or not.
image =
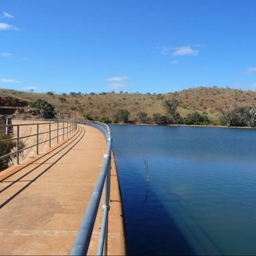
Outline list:
[[[31,147],[36,146],[36,154],[39,154],[39,145],[45,142],[49,141],[49,147],[51,147],[51,142],[54,139],[57,139],[57,143],[59,143],[59,138],[62,137],[65,139],[65,137],[71,136],[72,133],[74,133],[77,129],[77,121],[76,120],[52,120],[53,122],[49,121],[48,122],[40,122],[40,123],[26,123],[26,124],[8,124],[8,125],[0,125],[0,129],[8,130],[9,127],[13,128],[14,133],[16,134],[17,137],[10,138],[10,139],[5,139],[5,140],[0,140],[0,143],[8,142],[8,141],[15,141],[16,142],[16,150],[14,152],[11,152],[9,154],[0,156],[0,159],[10,157],[12,155],[16,155],[16,162],[19,164],[19,155],[21,152],[24,152],[25,150],[28,150]],[[57,123],[56,129],[53,128],[53,125]],[[27,135],[27,136],[21,136],[20,135],[20,127],[22,126],[36,126],[36,133]],[[40,131],[40,126],[41,125],[49,125],[49,131],[46,132],[39,132]],[[56,136],[52,137],[53,133],[56,132]],[[43,134],[48,134],[49,139],[40,141],[39,140],[39,135]],[[35,136],[36,138],[36,143],[33,145],[29,145],[27,147],[20,147],[22,139],[29,138]]]

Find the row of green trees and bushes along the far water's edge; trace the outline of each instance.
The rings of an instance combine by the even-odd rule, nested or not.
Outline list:
[[[180,101],[175,97],[163,101],[166,114],[153,113],[152,117],[148,116],[146,112],[138,112],[136,114],[137,122],[144,124],[186,124],[186,125],[210,125],[219,124],[223,126],[239,126],[239,127],[255,127],[256,126],[256,108],[254,106],[229,106],[226,108],[220,108],[219,113],[221,118],[218,123],[212,122],[207,112],[199,113],[194,111],[187,114],[185,117],[181,117],[178,112],[178,106]],[[83,114],[84,118],[89,120],[98,120],[101,122],[113,122],[113,123],[128,123],[130,112],[125,109],[118,109],[116,114],[112,117],[103,115],[100,117],[93,117],[88,113]]]

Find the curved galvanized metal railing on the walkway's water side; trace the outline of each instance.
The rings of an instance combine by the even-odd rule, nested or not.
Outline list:
[[[98,129],[104,136],[106,142],[106,154],[104,155],[104,162],[99,174],[98,181],[95,185],[89,206],[84,214],[82,224],[77,233],[76,240],[70,255],[86,255],[90,245],[92,232],[104,190],[104,203],[103,203],[103,217],[101,233],[99,238],[97,255],[106,255],[108,251],[108,224],[109,224],[109,210],[110,210],[110,174],[111,174],[111,152],[112,152],[112,139],[111,132],[108,125],[97,121],[78,121],[81,124],[90,125]]]

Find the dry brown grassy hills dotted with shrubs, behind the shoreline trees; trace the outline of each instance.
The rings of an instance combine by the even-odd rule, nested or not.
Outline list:
[[[94,119],[106,115],[112,120],[118,109],[125,109],[130,112],[129,119],[135,121],[138,120],[139,112],[145,112],[151,118],[154,113],[166,114],[164,100],[175,97],[180,102],[178,112],[181,117],[194,111],[205,112],[214,124],[219,123],[221,108],[228,108],[234,104],[254,106],[256,103],[256,92],[218,87],[191,88],[166,94],[104,92],[81,94],[72,92],[69,95],[0,89],[0,95],[30,102],[37,99],[47,100],[55,106],[57,113],[69,113],[75,118],[82,117],[83,113],[87,113]]]

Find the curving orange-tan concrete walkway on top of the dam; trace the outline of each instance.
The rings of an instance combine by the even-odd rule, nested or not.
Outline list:
[[[94,128],[77,133],[47,154],[0,173],[0,254],[67,255],[100,172],[106,146]],[[109,255],[124,255],[118,178],[113,160]],[[96,254],[98,212],[89,254]]]

